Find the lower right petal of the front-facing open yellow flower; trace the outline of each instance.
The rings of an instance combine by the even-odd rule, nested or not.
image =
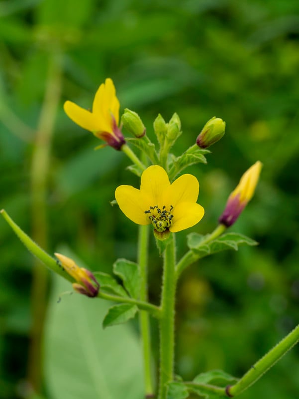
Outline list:
[[[173,225],[169,230],[173,233],[194,226],[204,215],[201,205],[194,202],[180,202],[173,209]]]

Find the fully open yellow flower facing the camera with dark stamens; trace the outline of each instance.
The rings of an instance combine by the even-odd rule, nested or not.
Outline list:
[[[158,232],[177,232],[194,226],[204,214],[196,203],[199,182],[193,175],[183,175],[170,184],[161,166],[147,168],[141,176],[140,190],[119,186],[115,199],[123,213],[137,224],[152,223]]]

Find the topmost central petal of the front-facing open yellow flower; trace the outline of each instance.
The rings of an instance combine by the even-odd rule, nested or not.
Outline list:
[[[166,171],[158,165],[148,167],[141,176],[140,191],[149,199],[150,206],[163,206],[163,193],[170,189],[170,182]],[[148,207],[146,208],[148,209]]]

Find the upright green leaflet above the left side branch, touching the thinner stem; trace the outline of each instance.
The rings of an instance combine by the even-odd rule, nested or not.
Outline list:
[[[126,259],[117,259],[113,264],[113,273],[120,277],[132,298],[138,299],[141,279],[137,263]]]

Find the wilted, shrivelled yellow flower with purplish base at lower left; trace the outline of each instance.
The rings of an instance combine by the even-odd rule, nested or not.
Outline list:
[[[83,267],[79,267],[73,259],[62,255],[61,253],[55,253],[55,256],[60,261],[64,270],[77,281],[77,283],[73,283],[75,291],[89,297],[95,297],[98,295],[100,284],[92,272]]]

